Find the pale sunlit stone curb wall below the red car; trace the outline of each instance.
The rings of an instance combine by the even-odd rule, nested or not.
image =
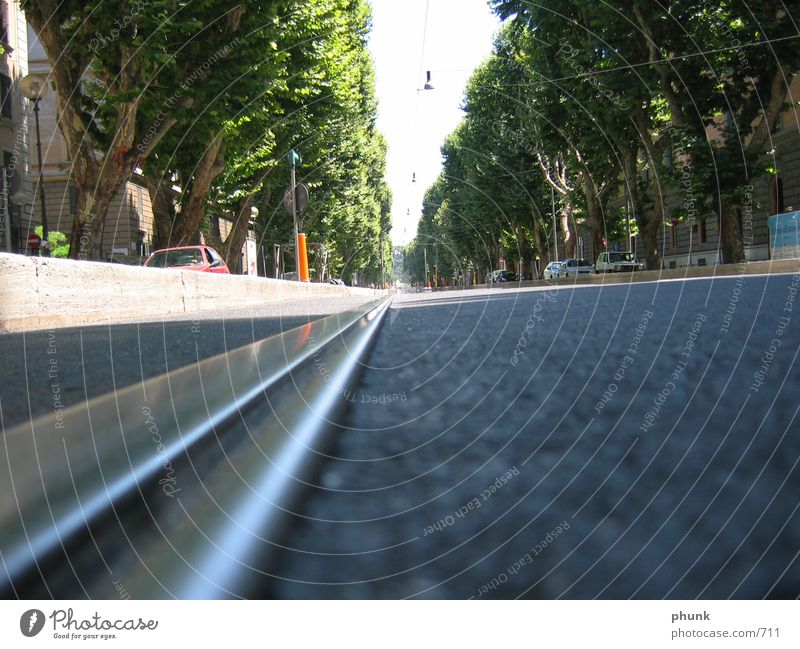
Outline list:
[[[3,333],[335,296],[376,291],[0,253]]]

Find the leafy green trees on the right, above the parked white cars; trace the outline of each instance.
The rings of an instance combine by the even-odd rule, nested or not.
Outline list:
[[[771,127],[800,69],[797,3],[490,4],[506,20],[442,146],[412,276],[431,246],[449,251],[450,273],[503,254],[527,273],[553,237],[575,255],[576,222],[596,254],[627,236],[628,215],[649,268],[661,265],[659,229],[685,219],[717,219],[723,261],[743,261],[740,209],[774,172]]]

